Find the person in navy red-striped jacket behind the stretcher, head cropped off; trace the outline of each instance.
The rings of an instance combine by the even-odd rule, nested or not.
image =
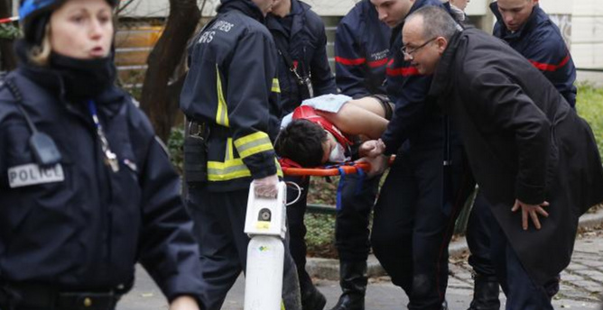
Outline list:
[[[385,68],[389,60],[390,33],[389,27],[379,21],[369,0],[357,3],[341,19],[335,34],[335,70],[342,94],[353,98],[380,95],[376,96],[378,100],[388,101]],[[391,113],[385,117],[391,118]],[[339,252],[342,294],[332,310],[364,309],[366,259],[370,250],[368,218],[375,204],[379,179],[349,175],[341,189],[335,244]]]

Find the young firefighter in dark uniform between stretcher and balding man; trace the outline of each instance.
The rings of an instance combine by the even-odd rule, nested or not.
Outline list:
[[[376,148],[376,153],[398,152],[376,202],[371,244],[392,282],[409,296],[409,309],[447,308],[448,244],[473,182],[452,124],[427,96],[431,76],[421,75],[404,59],[431,41],[404,46],[401,30],[406,15],[415,10],[448,8],[448,4],[439,0],[371,3],[379,19],[393,28],[386,87],[395,110],[381,141],[364,145]]]

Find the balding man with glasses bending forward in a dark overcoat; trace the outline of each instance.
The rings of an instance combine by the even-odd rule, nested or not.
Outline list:
[[[480,191],[496,217],[492,260],[508,310],[552,310],[578,218],[603,201],[603,169],[588,123],[537,68],[446,12],[407,18],[407,57],[433,81],[429,95],[457,124]]]

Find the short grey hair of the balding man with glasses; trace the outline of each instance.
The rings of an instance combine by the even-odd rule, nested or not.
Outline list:
[[[444,37],[446,40],[450,41],[450,38],[452,38],[454,33],[461,30],[459,29],[459,24],[441,7],[423,6],[406,17],[404,23],[408,23],[418,16],[422,16],[422,35],[424,39]]]

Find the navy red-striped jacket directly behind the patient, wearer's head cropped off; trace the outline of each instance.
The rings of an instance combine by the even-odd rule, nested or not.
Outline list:
[[[335,79],[342,94],[385,94],[391,30],[369,0],[358,2],[335,32]]]

